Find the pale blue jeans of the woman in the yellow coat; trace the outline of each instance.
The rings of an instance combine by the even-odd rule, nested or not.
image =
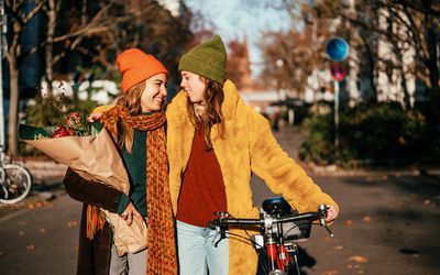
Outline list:
[[[177,221],[180,275],[228,275],[229,239],[216,230]],[[217,245],[215,245],[217,244]]]

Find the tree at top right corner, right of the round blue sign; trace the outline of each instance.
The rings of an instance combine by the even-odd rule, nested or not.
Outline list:
[[[438,61],[440,56],[436,50],[440,37],[439,1],[358,0],[352,11],[348,11],[349,7],[338,1],[334,1],[336,4],[331,7],[323,1],[317,2],[314,9],[323,16],[341,18],[351,24],[352,32],[359,34],[360,31],[363,31],[370,37],[375,37],[376,42],[391,47],[392,55],[388,55],[387,58],[378,55],[377,52],[370,52],[373,54],[373,58],[376,58],[375,69],[385,73],[397,69],[403,75],[414,75],[428,87],[429,101],[433,105],[439,101]],[[371,43],[364,45],[369,46]],[[415,51],[414,64],[404,66],[405,55],[410,50]],[[409,95],[405,78],[403,78],[402,87],[405,106],[409,108]]]

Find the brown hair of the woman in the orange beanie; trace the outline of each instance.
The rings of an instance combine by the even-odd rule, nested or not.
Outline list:
[[[145,89],[145,81],[139,82],[131,87],[124,95],[124,107],[129,111],[130,116],[135,116],[140,114],[142,112],[141,108],[141,97],[142,92]],[[121,139],[118,141],[119,147],[123,147],[125,145],[125,150],[131,153],[131,150],[133,147],[133,136],[134,136],[134,131],[133,128],[129,127],[123,120],[121,120],[121,127],[122,127],[122,135]]]

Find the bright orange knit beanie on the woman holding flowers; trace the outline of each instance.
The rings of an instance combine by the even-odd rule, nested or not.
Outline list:
[[[117,58],[117,64],[122,74],[121,88],[123,92],[154,75],[168,74],[160,61],[139,48],[129,48],[122,52]]]

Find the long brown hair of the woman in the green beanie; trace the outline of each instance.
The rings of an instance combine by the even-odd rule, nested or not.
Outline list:
[[[221,111],[221,105],[224,100],[223,86],[217,81],[206,79],[201,76],[199,77],[202,81],[206,82],[204,98],[207,102],[207,106],[205,113],[201,117],[197,116],[195,105],[190,100],[187,101],[186,108],[189,113],[189,120],[191,121],[194,127],[205,124],[205,142],[207,145],[207,150],[211,150],[211,129],[215,124],[218,124],[219,136],[221,139],[224,139],[226,136],[224,117]],[[216,139],[219,136],[216,136]]]

